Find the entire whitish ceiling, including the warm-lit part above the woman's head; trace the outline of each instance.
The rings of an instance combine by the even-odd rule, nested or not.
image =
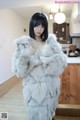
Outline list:
[[[58,11],[57,6],[54,6],[55,1],[59,0],[2,0],[0,1],[0,8],[10,8],[25,18],[31,17],[35,12],[44,12],[47,15],[53,12],[54,15]],[[73,4],[59,5],[61,12],[64,12],[67,17],[70,17]]]

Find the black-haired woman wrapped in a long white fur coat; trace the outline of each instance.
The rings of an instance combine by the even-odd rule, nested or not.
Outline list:
[[[52,120],[60,92],[60,74],[66,57],[54,34],[48,35],[48,22],[43,13],[30,21],[30,36],[16,41],[12,68],[23,78],[23,96],[27,120]]]

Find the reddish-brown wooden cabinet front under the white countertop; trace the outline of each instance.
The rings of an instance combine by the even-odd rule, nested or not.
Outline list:
[[[80,104],[80,64],[68,64],[61,75],[60,104]]]

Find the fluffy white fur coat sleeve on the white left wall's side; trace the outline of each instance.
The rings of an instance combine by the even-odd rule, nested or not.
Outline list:
[[[31,70],[30,59],[35,53],[31,38],[23,36],[15,41],[16,50],[12,58],[12,71],[18,76],[25,78]]]

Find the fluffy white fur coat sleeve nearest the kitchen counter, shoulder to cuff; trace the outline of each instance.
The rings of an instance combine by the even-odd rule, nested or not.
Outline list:
[[[54,34],[49,35],[41,60],[46,66],[46,74],[59,75],[67,66],[67,57],[62,52],[61,45]]]

